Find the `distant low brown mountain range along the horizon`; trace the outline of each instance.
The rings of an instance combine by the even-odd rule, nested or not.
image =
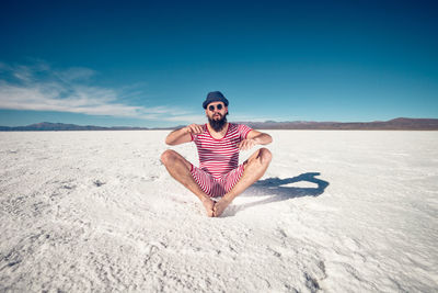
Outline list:
[[[345,131],[438,131],[438,119],[394,119],[390,121],[374,122],[237,122],[246,124],[255,129],[345,129]],[[101,127],[93,125],[76,125],[64,123],[42,122],[27,126],[0,126],[1,132],[37,132],[37,131],[151,131],[151,129],[175,129],[182,126],[148,128],[148,127]]]

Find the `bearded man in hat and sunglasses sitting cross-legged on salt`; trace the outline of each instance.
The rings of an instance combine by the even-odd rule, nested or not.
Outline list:
[[[246,125],[228,123],[228,104],[221,92],[209,92],[203,103],[208,123],[191,124],[173,131],[165,138],[171,146],[194,142],[199,168],[174,150],[168,149],[161,155],[169,173],[195,193],[208,216],[220,216],[235,196],[265,173],[272,159],[270,151],[261,148],[239,165],[240,150],[270,144],[273,138]],[[212,201],[218,196],[221,199]]]

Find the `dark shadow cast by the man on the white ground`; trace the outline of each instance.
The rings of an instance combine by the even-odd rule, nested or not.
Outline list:
[[[234,215],[239,211],[260,204],[286,201],[289,199],[296,199],[302,196],[319,196],[322,193],[324,193],[324,190],[330,184],[327,181],[315,178],[316,176],[320,174],[321,173],[319,172],[308,172],[293,178],[286,178],[286,179],[267,178],[264,180],[258,180],[249,189],[246,189],[245,192],[240,196],[254,196],[254,195],[263,195],[263,196],[272,195],[272,196],[262,201],[255,201],[251,203],[230,206],[234,209],[230,209],[230,211],[228,211],[227,214]],[[287,184],[302,182],[302,181],[316,183],[318,187],[315,188],[287,187]]]

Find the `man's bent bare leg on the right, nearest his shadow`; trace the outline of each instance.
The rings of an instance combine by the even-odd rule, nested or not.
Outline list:
[[[214,216],[220,216],[227,206],[235,199],[235,196],[241,194],[245,189],[262,178],[269,166],[272,157],[273,155],[267,148],[261,148],[243,162],[245,165],[245,169],[242,178],[232,188],[232,190],[230,190],[230,192],[223,195],[223,198],[215,204]]]

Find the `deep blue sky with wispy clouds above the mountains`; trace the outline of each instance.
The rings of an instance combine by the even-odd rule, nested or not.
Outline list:
[[[0,125],[438,117],[435,1],[308,2],[2,1]]]

